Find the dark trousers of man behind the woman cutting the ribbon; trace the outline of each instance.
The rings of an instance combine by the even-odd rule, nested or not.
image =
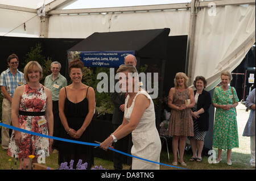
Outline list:
[[[113,124],[113,129],[117,129],[119,125]],[[128,134],[126,137],[123,137],[121,140],[118,140],[114,144],[114,149],[123,151],[125,153],[131,154],[131,134]],[[128,165],[131,164],[131,158],[127,157],[126,155],[117,153],[114,151],[113,153],[113,162],[114,162],[114,169],[115,170],[122,170],[123,169],[123,163],[127,163]]]

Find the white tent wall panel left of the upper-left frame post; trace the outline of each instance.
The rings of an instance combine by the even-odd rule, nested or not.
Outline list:
[[[0,36],[39,37],[40,18],[35,13],[0,9],[0,24]]]

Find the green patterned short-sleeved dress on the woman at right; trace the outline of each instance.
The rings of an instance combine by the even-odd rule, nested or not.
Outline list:
[[[224,91],[221,86],[216,87],[213,93],[212,103],[218,105],[233,104],[238,102],[237,92],[232,87]],[[221,108],[216,108],[214,128],[213,128],[213,148],[217,149],[232,149],[238,148],[238,131],[237,131],[237,117],[235,108],[229,111]]]

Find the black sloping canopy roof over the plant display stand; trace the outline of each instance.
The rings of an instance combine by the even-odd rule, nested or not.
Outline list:
[[[135,50],[139,57],[166,58],[170,28],[93,33],[69,51]]]

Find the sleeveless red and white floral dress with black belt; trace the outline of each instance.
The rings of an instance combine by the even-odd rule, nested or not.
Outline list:
[[[47,96],[44,92],[44,86],[40,84],[39,89],[31,89],[25,85],[22,98],[20,99],[19,111],[43,112],[46,111]],[[46,116],[24,116],[19,115],[19,127],[36,133],[48,135],[48,124]],[[7,154],[15,158],[28,158],[28,155],[39,157],[45,153],[45,157],[49,156],[49,140],[48,138],[34,136],[31,134],[20,132],[22,135],[21,145],[15,143],[14,131],[11,134],[9,149]]]

